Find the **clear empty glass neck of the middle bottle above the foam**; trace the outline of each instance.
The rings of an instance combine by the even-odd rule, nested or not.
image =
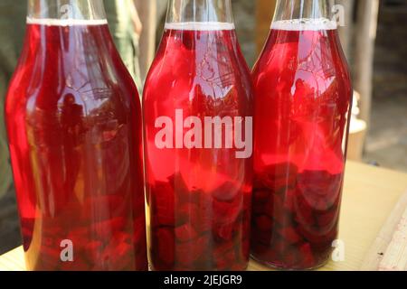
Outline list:
[[[233,23],[231,0],[170,0],[166,23]]]

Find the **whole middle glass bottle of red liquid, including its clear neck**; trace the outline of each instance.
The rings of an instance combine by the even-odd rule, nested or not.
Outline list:
[[[143,103],[155,270],[248,265],[251,93],[230,0],[170,1]]]

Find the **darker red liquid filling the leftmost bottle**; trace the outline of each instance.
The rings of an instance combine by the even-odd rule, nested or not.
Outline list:
[[[141,109],[108,26],[28,24],[6,119],[28,268],[146,270]]]

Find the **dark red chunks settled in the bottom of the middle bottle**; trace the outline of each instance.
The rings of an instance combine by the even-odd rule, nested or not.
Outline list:
[[[249,261],[251,188],[188,188],[180,173],[149,194],[156,270],[243,270]]]

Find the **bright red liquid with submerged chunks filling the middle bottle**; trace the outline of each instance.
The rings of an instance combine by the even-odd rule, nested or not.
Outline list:
[[[237,159],[234,148],[159,149],[155,122],[162,116],[175,122],[175,109],[203,122],[204,117],[252,117],[251,103],[250,71],[234,31],[166,30],[143,105],[155,270],[247,267],[251,156]]]

